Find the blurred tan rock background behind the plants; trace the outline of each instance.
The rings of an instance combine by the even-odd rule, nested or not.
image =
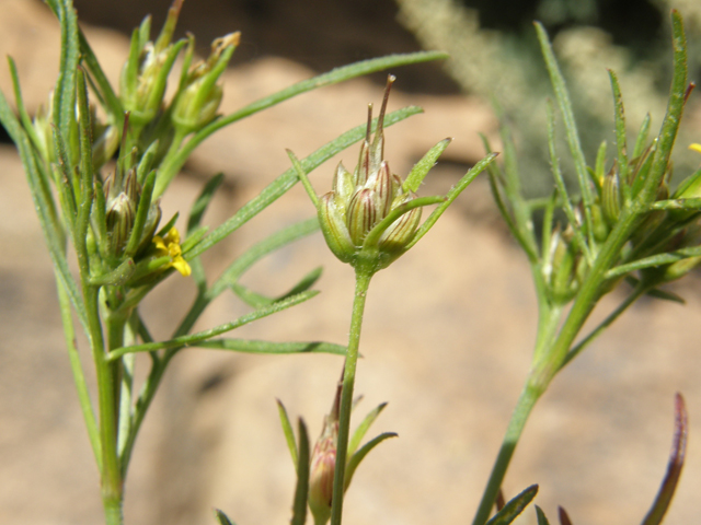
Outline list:
[[[113,80],[128,48],[123,32],[148,12],[160,27],[169,3],[76,1]],[[398,23],[399,12],[389,0],[187,0],[180,30],[195,33],[203,51],[216,36],[243,32],[235,67],[226,77],[222,110],[229,113],[314,72],[418,49]],[[37,0],[0,0],[0,50],[16,60],[34,112],[57,73],[57,24]],[[394,172],[405,174],[436,141],[455,137],[426,185],[426,195],[445,191],[482,155],[476,133],[495,135],[489,103],[476,88],[460,94],[437,65],[394,73],[391,108],[417,104],[426,113],[388,131],[387,158]],[[382,79],[302,95],[220,132],[185,166],[163,203],[164,214],[188,209],[202,183],[222,171],[227,184],[207,217],[219,224],[288,167],[285,148],[306,155],[364,121],[366,104],[380,101]],[[0,88],[11,93],[4,68]],[[658,122],[662,115],[653,117]],[[694,122],[692,114],[686,132],[698,137]],[[340,159],[354,165],[356,150]],[[330,186],[338,160],[312,174],[319,192]],[[64,350],[50,262],[11,144],[0,148],[0,523],[101,523],[97,475]],[[370,290],[359,411],[390,401],[374,430],[395,431],[400,439],[383,444],[358,469],[348,492],[348,524],[470,520],[527,373],[536,312],[525,258],[505,233],[485,180],[476,180],[456,205],[421,245],[379,273]],[[307,196],[295,188],[219,247],[206,260],[208,269],[216,275],[265,234],[312,214]],[[345,342],[353,276],[330,256],[320,235],[268,257],[245,283],[280,292],[319,265],[324,267],[319,298],[238,336]],[[666,523],[698,522],[698,278],[675,291],[688,300],[686,306],[641,302],[554,382],[519,445],[507,495],[538,482],[537,502],[553,521],[558,504],[575,524],[642,520],[665,472],[679,390],[690,412],[690,443]],[[174,276],[151,298],[148,316],[156,335],[168,337],[193,293],[191,282]],[[595,317],[606,315],[614,299]],[[221,298],[199,327],[244,312],[233,296]],[[304,417],[315,436],[341,364],[326,355],[180,354],[139,438],[126,523],[210,524],[212,506],[240,525],[285,523],[294,468],[275,398],[291,417]],[[532,510],[527,514],[520,523],[535,523]]]

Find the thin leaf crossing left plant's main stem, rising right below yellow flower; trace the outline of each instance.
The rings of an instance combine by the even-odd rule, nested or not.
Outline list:
[[[255,312],[251,312],[250,314],[243,315],[231,323],[225,323],[223,325],[219,325],[208,330],[198,331],[197,334],[193,334],[189,336],[175,337],[166,341],[146,342],[142,345],[133,345],[129,347],[117,348],[107,354],[107,359],[110,361],[114,361],[115,359],[118,359],[122,355],[125,355],[127,353],[153,352],[156,350],[161,350],[161,349],[198,346],[198,343],[207,339],[211,339],[215,336],[225,334],[227,331],[231,331],[235,328],[239,328],[240,326],[246,325],[254,320],[261,319],[263,317],[267,317],[268,315],[276,314],[277,312],[281,312],[283,310],[287,310],[291,306],[302,303],[313,298],[319,292],[300,293],[299,295],[289,298],[286,301],[280,301],[279,303],[274,303],[271,306],[260,308],[260,310],[256,310]]]

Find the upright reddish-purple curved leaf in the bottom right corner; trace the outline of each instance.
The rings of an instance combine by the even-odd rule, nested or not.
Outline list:
[[[683,467],[688,432],[687,408],[681,394],[677,394],[675,397],[675,435],[671,442],[667,474],[642,525],[659,525],[667,513],[667,509],[669,509],[669,503],[671,503],[671,499],[675,495],[679,476],[681,476],[681,468]]]

